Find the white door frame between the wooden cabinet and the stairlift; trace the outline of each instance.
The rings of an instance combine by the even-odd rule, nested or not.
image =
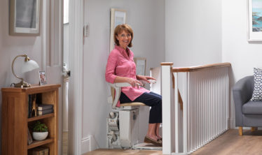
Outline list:
[[[69,1],[69,37],[71,38],[69,53],[71,69],[70,83],[73,87],[73,103],[71,107],[69,105],[69,154],[81,154],[81,141],[82,141],[82,107],[83,107],[83,0],[71,0]],[[50,29],[50,13],[49,13],[50,1],[43,1],[43,29],[41,36],[42,38],[42,68],[46,71],[47,57],[49,57],[49,38]],[[59,9],[57,13],[63,15],[63,9]],[[61,24],[62,27],[62,24]],[[60,32],[55,32],[60,33]],[[61,32],[62,33],[62,32]],[[62,72],[62,71],[61,71]],[[61,75],[62,77],[62,75]],[[60,98],[62,99],[62,98]],[[60,119],[62,120],[62,119]],[[62,128],[62,126],[60,126]],[[60,130],[62,131],[62,130]]]

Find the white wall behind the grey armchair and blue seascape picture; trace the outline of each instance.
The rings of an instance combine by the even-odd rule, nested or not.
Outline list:
[[[237,4],[237,7],[236,7]],[[222,1],[222,61],[232,64],[230,86],[262,66],[262,42],[247,42],[247,1]],[[231,90],[230,90],[231,91]],[[231,126],[235,127],[235,107],[230,100]]]

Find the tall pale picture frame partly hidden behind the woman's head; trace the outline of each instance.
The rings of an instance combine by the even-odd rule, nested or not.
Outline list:
[[[113,50],[114,47],[114,40],[113,40],[113,31],[115,30],[118,24],[125,24],[126,23],[126,10],[118,9],[118,8],[111,8],[110,11],[110,51]]]

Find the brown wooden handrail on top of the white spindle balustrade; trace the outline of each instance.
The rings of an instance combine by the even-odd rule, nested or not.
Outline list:
[[[171,71],[174,72],[194,72],[194,71],[202,71],[212,68],[223,68],[223,67],[230,67],[231,64],[229,62],[225,63],[218,63],[218,64],[208,64],[203,66],[192,66],[192,67],[173,67]]]

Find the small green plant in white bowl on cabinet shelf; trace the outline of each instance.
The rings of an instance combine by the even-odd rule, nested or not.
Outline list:
[[[33,138],[34,140],[45,140],[48,136],[48,127],[46,124],[36,121],[33,126]]]

